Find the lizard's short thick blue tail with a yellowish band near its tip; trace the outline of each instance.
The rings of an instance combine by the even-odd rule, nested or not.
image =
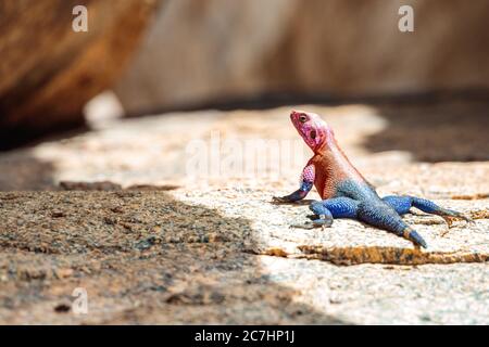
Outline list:
[[[390,206],[384,204],[360,204],[358,218],[364,222],[390,231],[398,236],[410,240],[415,245],[427,248],[423,237],[408,226]]]

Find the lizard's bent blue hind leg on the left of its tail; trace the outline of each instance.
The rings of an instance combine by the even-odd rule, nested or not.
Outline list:
[[[312,203],[309,208],[315,218],[303,224],[293,224],[294,228],[312,229],[327,228],[333,224],[334,218],[355,218],[359,202],[349,197],[335,197]]]

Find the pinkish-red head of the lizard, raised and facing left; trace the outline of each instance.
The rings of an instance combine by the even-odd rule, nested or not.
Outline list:
[[[333,137],[331,129],[318,115],[304,111],[292,111],[290,120],[305,143],[314,152]]]

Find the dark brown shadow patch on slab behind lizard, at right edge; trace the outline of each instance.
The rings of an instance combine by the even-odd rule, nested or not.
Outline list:
[[[372,152],[405,151],[419,162],[489,160],[489,103],[439,101],[376,106],[387,128],[363,145]]]

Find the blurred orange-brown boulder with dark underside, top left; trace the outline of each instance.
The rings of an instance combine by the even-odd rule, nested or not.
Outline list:
[[[110,87],[136,48],[158,0],[0,3],[0,146],[83,124],[83,106]],[[88,9],[88,33],[72,10]]]

